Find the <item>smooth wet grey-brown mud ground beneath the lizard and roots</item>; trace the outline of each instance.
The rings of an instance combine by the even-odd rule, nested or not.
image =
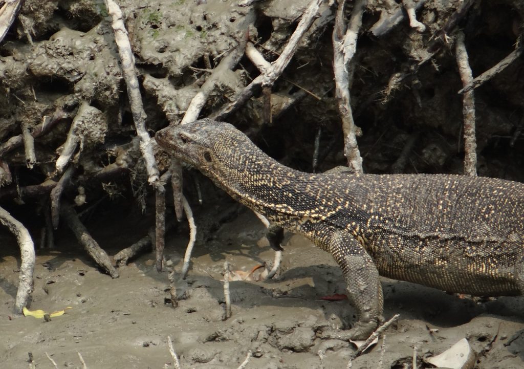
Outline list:
[[[114,219],[115,214],[108,214]],[[108,219],[88,227],[110,253],[136,241],[144,228],[137,216],[121,216],[119,232]],[[113,220],[114,222],[114,220]],[[166,261],[180,271],[187,229],[168,236]],[[0,263],[0,362],[5,368],[27,367],[28,353],[37,367],[145,368],[172,363],[167,337],[173,339],[182,368],[234,369],[250,350],[249,368],[340,368],[356,349],[353,344],[319,338],[325,327],[345,328],[353,309],[347,301],[321,297],[344,293],[341,271],[331,256],[300,236],[288,235],[282,270],[274,281],[232,281],[233,316],[223,321],[221,279],[224,259],[234,270],[250,270],[271,261],[264,228],[247,209],[213,232],[196,250],[192,269],[178,280],[179,307],[168,301],[167,272],[157,273],[152,253],[119,268],[120,277],[100,273],[63,232],[57,248],[40,249],[30,310],[61,310],[51,321],[11,316],[18,274],[14,240],[2,236]],[[218,247],[220,246],[220,247]],[[168,262],[170,261],[170,262]],[[385,343],[353,361],[356,368],[410,367],[416,348],[418,367],[432,367],[422,357],[438,354],[467,338],[478,354],[476,368],[520,368],[524,360],[521,297],[474,302],[445,292],[394,280],[382,280],[385,317],[400,319],[385,332]],[[381,353],[384,346],[384,353]],[[321,366],[318,352],[325,353]],[[383,355],[383,359],[380,359]]]

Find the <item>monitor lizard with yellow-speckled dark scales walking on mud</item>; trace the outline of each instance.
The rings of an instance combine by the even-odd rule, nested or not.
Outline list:
[[[357,310],[348,338],[367,338],[383,319],[379,275],[475,296],[524,291],[523,183],[305,173],[210,119],[169,126],[155,138],[235,200],[332,254]]]

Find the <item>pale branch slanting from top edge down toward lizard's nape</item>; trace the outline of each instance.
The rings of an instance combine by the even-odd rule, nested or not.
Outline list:
[[[282,53],[280,54],[280,57],[274,63],[271,64],[271,68],[269,70],[266,70],[265,73],[262,73],[257,78],[255,78],[244,88],[244,90],[242,90],[238,94],[235,101],[231,102],[230,104],[227,104],[226,106],[221,108],[220,111],[212,114],[210,116],[211,118],[219,121],[223,120],[233,111],[237,110],[237,108],[242,106],[251,96],[253,96],[255,89],[259,85],[272,86],[273,83],[275,83],[277,78],[280,76],[280,74],[282,74],[282,71],[284,70],[284,68],[286,68],[289,61],[291,60],[291,57],[296,51],[298,44],[302,39],[302,36],[304,35],[304,32],[309,28],[309,26],[311,26],[311,23],[313,23],[314,17],[318,12],[321,2],[322,0],[312,0],[312,2],[302,15],[302,18],[300,19],[297,28],[289,38],[288,44],[283,49]]]

